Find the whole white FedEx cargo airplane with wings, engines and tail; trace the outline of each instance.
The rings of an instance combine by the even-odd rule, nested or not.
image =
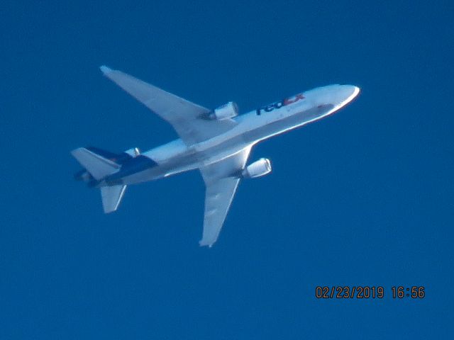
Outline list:
[[[228,102],[210,110],[158,89],[121,71],[100,67],[105,77],[147,106],[175,129],[179,139],[147,152],[138,148],[107,152],[96,147],[71,153],[84,169],[77,180],[101,189],[104,212],[114,212],[126,186],[199,169],[206,185],[200,246],[213,246],[241,179],[271,172],[269,159],[247,165],[251,149],[267,138],[312,123],[343,108],[358,96],[353,85],[329,85],[238,115]]]

